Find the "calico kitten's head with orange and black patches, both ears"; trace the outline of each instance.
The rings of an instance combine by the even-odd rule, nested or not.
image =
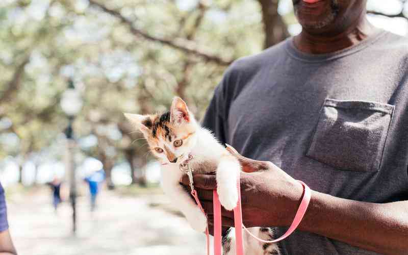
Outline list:
[[[198,124],[180,97],[174,97],[170,111],[163,114],[124,115],[143,133],[162,164],[181,164],[196,144]]]

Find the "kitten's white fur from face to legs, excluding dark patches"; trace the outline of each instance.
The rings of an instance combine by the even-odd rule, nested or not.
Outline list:
[[[187,159],[188,154],[191,153],[193,159],[189,162],[189,165],[193,171],[195,170],[194,173],[208,173],[208,171],[212,171],[216,168],[217,193],[220,203],[225,209],[230,211],[236,207],[238,202],[237,179],[241,171],[241,165],[239,161],[219,143],[210,131],[201,127],[196,122],[193,114],[189,112],[187,105],[181,98],[175,97],[173,99],[170,112],[171,121],[175,121],[174,123],[179,123],[180,125],[186,125],[186,130],[194,130],[194,132],[190,135],[186,144],[177,149],[169,148],[170,145],[168,141],[163,138],[158,138],[158,142],[154,146],[162,147],[167,144],[167,149],[171,150],[178,158],[176,163],[170,163],[164,153],[159,154],[155,152],[155,150],[152,150],[152,153],[155,154],[161,163],[167,163],[161,166],[163,191],[171,198],[173,205],[180,209],[186,216],[187,221],[193,229],[202,233],[206,231],[207,217],[198,208],[190,194],[180,185],[180,179],[184,174],[180,170],[180,164],[183,163]],[[146,116],[137,114],[125,114],[125,116],[142,131],[147,139],[149,130],[142,123]],[[188,120],[186,120],[186,116]],[[181,134],[181,137],[187,135],[188,131]],[[203,167],[206,165],[208,167]],[[260,238],[270,238],[269,235],[265,236],[266,234],[260,231],[260,227],[251,227],[248,229]],[[225,253],[225,255],[232,255],[235,254],[234,229],[230,231],[228,238],[231,239],[231,249],[228,253]],[[277,250],[276,245],[271,245],[266,250],[263,249],[262,245],[262,243],[256,241],[249,235],[244,235],[244,250],[246,255],[273,254],[270,251]]]

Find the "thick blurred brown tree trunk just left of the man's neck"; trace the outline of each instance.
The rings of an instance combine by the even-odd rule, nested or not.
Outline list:
[[[289,37],[287,26],[281,15],[277,12],[278,0],[258,0],[262,8],[262,21],[264,23],[265,41],[264,48],[268,48]]]

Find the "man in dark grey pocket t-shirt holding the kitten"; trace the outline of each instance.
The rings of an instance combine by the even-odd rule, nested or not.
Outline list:
[[[263,160],[241,160],[244,224],[282,235],[301,180],[312,199],[283,254],[408,254],[408,40],[373,27],[365,0],[293,4],[302,32],[228,68],[203,120]],[[194,182],[212,224],[215,178]]]

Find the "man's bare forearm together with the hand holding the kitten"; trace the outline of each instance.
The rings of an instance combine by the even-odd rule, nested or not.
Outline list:
[[[251,226],[289,226],[302,196],[302,186],[271,162],[250,160],[237,152],[243,167],[243,221]],[[188,178],[181,180],[188,185]],[[213,219],[214,175],[195,175],[194,185],[209,223]],[[222,223],[234,226],[234,213],[222,208]],[[408,201],[368,203],[312,191],[299,230],[384,254],[408,254]]]

